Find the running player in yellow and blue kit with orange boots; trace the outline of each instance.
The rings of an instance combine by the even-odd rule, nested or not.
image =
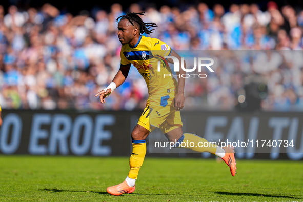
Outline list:
[[[165,56],[174,56],[179,61],[181,61],[181,57],[159,39],[141,35],[152,33],[154,29],[150,29],[150,27],[157,27],[157,25],[144,23],[139,15],[144,15],[144,13],[129,12],[117,18],[117,21],[120,19],[117,34],[122,44],[120,69],[110,85],[96,94],[96,97],[99,96],[100,102],[105,103],[105,98],[127,78],[131,64],[144,77],[149,90],[146,108],[131,133],[132,154],[129,160],[129,174],[123,183],[107,188],[107,192],[112,195],[135,191],[136,179],[146,154],[146,138],[155,127],[160,128],[169,141],[175,143],[174,147],[187,141],[194,142],[195,145],[198,145],[199,142],[207,142],[197,135],[183,134],[180,110],[184,107],[185,78],[180,76],[177,82],[170,76],[163,76],[165,73],[172,75],[166,61],[173,63],[173,60],[170,58],[165,60]],[[152,54],[153,51],[158,54]],[[162,62],[160,72],[157,72],[157,66],[154,66],[155,59]],[[180,68],[179,74],[183,73],[185,72]],[[236,173],[234,148],[231,146],[221,148],[209,142],[204,145],[208,145],[208,147],[187,148],[219,156],[230,167],[230,172],[234,176]]]

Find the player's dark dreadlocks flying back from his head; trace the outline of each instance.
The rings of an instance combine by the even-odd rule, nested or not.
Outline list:
[[[140,12],[140,13],[131,13],[128,12],[126,13],[126,15],[122,15],[120,17],[117,18],[117,22],[118,19],[128,19],[128,21],[134,26],[134,23],[138,24],[140,27],[140,34],[146,33],[146,34],[150,34],[153,33],[152,31],[155,29],[151,29],[149,30],[150,27],[158,27],[157,24],[155,23],[145,23],[143,22],[143,20],[141,19],[141,17],[139,15],[144,15],[145,12]]]

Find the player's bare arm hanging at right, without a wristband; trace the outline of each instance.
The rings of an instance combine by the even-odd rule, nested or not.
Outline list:
[[[171,50],[171,56],[174,56],[176,58],[178,58],[179,61],[181,61],[181,56],[176,53],[174,50]],[[173,63],[173,60],[171,58],[167,59],[167,62],[169,63]],[[186,68],[186,64],[184,61],[184,68]],[[177,76],[178,76],[178,91],[177,94],[175,95],[174,98],[174,107],[176,111],[180,111],[183,107],[184,107],[184,85],[185,85],[185,78],[183,78],[180,75],[185,74],[185,71],[183,70],[183,68],[181,68],[181,63],[180,63],[180,71],[177,72]]]

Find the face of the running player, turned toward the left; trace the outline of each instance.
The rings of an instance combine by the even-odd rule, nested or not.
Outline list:
[[[118,38],[122,45],[130,43],[134,38],[134,26],[127,19],[119,21],[118,30]]]

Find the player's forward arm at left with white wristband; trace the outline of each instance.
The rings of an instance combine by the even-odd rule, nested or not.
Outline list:
[[[127,78],[128,72],[130,70],[131,63],[127,65],[120,65],[120,69],[115,75],[112,83],[102,91],[99,91],[95,96],[99,96],[100,102],[105,103],[105,98],[117,87],[123,84],[125,79]]]

